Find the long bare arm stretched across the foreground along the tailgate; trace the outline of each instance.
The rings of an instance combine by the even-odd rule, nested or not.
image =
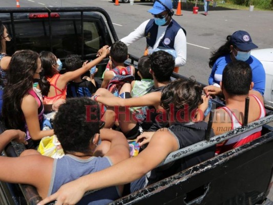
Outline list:
[[[154,169],[171,152],[178,149],[177,140],[167,131],[156,132],[150,144],[138,156],[123,160],[110,168],[89,174],[63,185],[55,194],[37,205],[57,199],[56,205],[75,204],[89,190],[123,185]],[[132,167],[134,169],[132,169]]]

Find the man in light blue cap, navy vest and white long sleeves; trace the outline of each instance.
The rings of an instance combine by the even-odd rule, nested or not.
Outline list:
[[[138,39],[146,37],[148,55],[157,50],[171,53],[175,58],[175,72],[186,63],[186,31],[172,18],[172,0],[156,0],[150,12],[154,18],[143,22],[135,31],[121,39],[130,46]],[[100,55],[100,50],[98,51]]]

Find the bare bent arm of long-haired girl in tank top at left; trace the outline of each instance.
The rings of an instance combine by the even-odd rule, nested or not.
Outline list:
[[[40,130],[40,124],[38,119],[38,104],[33,96],[25,96],[22,100],[21,108],[24,113],[29,129],[29,134],[32,139],[38,140],[54,134],[53,130]]]

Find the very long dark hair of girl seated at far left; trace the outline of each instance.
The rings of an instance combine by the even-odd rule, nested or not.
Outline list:
[[[3,94],[3,120],[7,128],[25,130],[22,99],[33,86],[38,53],[31,50],[15,52],[7,70],[8,82]]]

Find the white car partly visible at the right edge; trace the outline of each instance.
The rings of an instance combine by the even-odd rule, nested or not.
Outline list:
[[[265,70],[264,104],[273,107],[273,48],[252,50],[251,55],[263,64]]]

